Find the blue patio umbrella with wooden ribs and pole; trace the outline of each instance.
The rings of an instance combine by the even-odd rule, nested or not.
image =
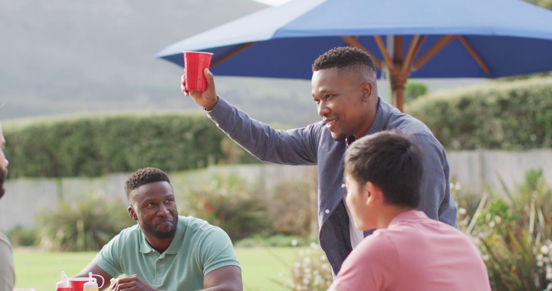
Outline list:
[[[310,79],[336,46],[388,71],[402,111],[406,79],[552,71],[552,12],[521,0],[294,0],[170,45],[158,57],[213,52],[217,75]]]

